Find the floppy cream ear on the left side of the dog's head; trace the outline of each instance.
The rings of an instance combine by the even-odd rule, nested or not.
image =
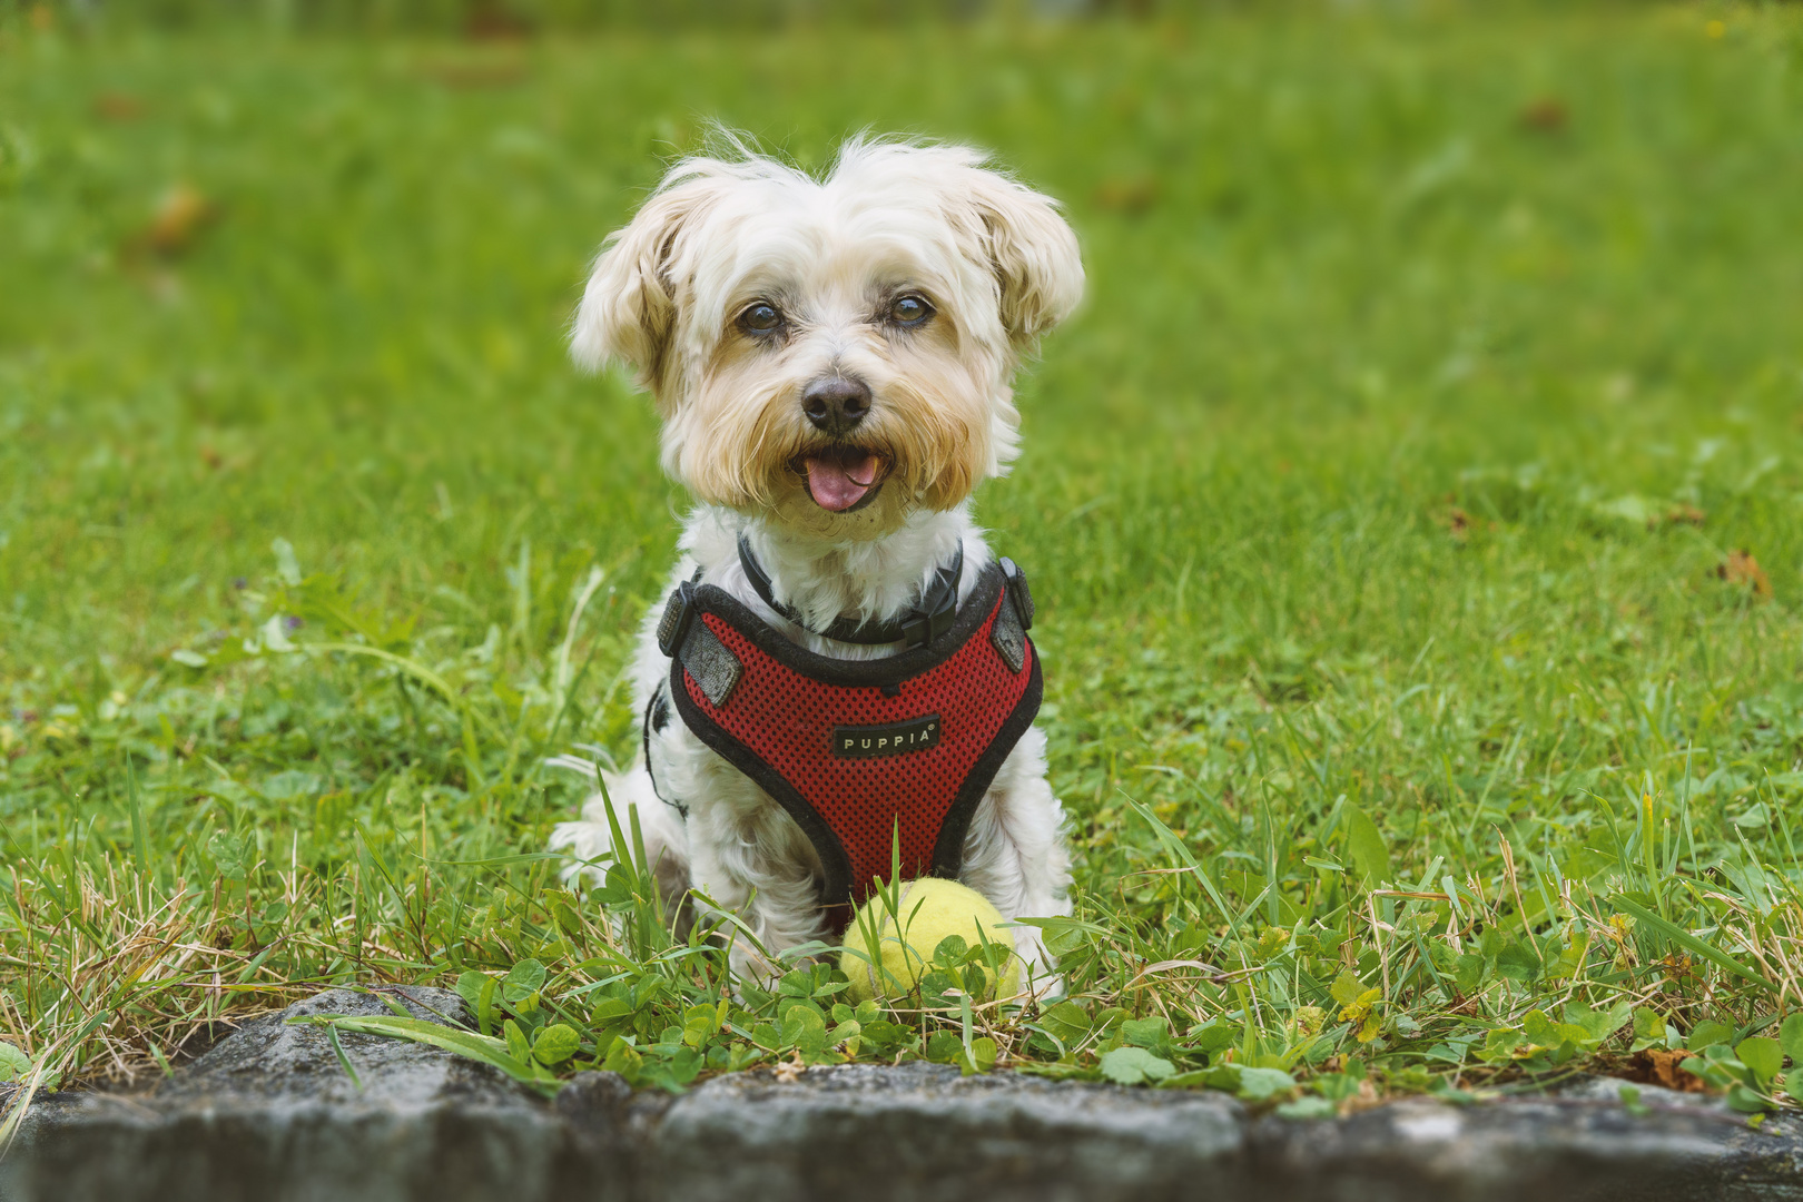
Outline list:
[[[676,330],[678,281],[671,263],[683,225],[712,193],[707,175],[673,173],[626,229],[608,236],[570,332],[570,353],[579,364],[599,369],[622,362],[644,387],[658,387]]]

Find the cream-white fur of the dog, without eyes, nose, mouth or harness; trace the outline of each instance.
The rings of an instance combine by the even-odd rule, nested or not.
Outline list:
[[[970,490],[1017,449],[1011,382],[1020,355],[1082,294],[1076,240],[1053,202],[983,166],[961,146],[847,142],[826,178],[770,159],[689,159],[669,171],[595,263],[575,319],[579,360],[618,360],[656,393],[665,469],[700,499],[669,586],[701,569],[797,643],[826,656],[900,647],[837,643],[773,613],[737,559],[746,533],[779,602],[813,627],[840,615],[891,618],[914,604],[961,542],[961,600],[992,551],[970,519]],[[934,308],[920,332],[882,321],[898,292]],[[781,297],[788,333],[748,335],[746,305]],[[826,445],[801,414],[822,375],[869,384],[853,442],[882,456],[874,499],[849,514],[813,503],[797,463]],[[1031,555],[1020,555],[1031,562]],[[640,714],[669,678],[653,606],[633,665]],[[680,717],[649,741],[645,764],[608,777],[617,816],[638,813],[645,852],[673,905],[689,888],[739,914],[772,953],[828,935],[820,863],[763,789],[701,744]],[[597,881],[611,849],[600,795],[552,847],[564,878]],[[977,807],[959,879],[1006,919],[1069,914],[1062,809],[1046,782],[1046,737],[1030,730]],[[1035,991],[1057,988],[1039,930],[1013,928]],[[734,971],[773,970],[743,939]]]

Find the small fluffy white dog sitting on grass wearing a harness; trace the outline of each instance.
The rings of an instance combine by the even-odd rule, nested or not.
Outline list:
[[[674,600],[645,622],[633,669],[644,751],[631,771],[606,779],[608,793],[622,825],[626,807],[636,811],[645,854],[673,906],[694,888],[737,912],[770,953],[813,939],[837,942],[846,890],[855,897],[867,881],[846,879],[856,854],[847,861],[831,836],[822,842],[820,829],[831,824],[810,825],[810,815],[797,809],[799,791],[781,788],[781,773],[759,773],[768,764],[755,757],[723,755],[719,748],[736,744],[721,742],[718,730],[709,739],[694,728],[707,724],[701,710],[727,721],[736,703],[752,705],[755,679],[737,681],[741,672],[755,678],[754,656],[768,672],[783,672],[772,667],[775,660],[748,651],[755,638],[736,642],[721,613],[743,607],[743,624],[775,633],[828,674],[828,660],[860,661],[846,670],[878,674],[885,665],[864,661],[925,663],[932,647],[911,651],[925,640],[921,631],[936,638],[934,647],[970,636],[966,667],[1004,685],[1026,681],[1030,669],[1031,706],[1020,712],[1030,719],[1037,708],[1031,651],[1020,663],[1031,602],[1022,587],[1024,607],[1017,616],[1006,611],[1019,575],[1002,577],[972,523],[968,497],[1015,456],[1015,369],[1076,305],[1084,269],[1057,204],[984,164],[983,153],[963,146],[871,139],[847,142],[822,178],[737,146],[685,159],[604,243],[575,315],[577,360],[633,368],[664,418],[664,467],[700,501],[671,577]],[[934,606],[936,616],[927,613]],[[963,634],[945,629],[952,606]],[[698,611],[714,618],[703,622]],[[992,613],[993,649],[972,636]],[[902,636],[900,624],[911,616],[925,625]],[[673,647],[671,638],[680,642],[701,625],[701,652],[712,658],[685,661],[700,643]],[[1013,643],[1006,643],[1008,631]],[[719,658],[721,640],[737,649],[728,660]],[[772,654],[788,661],[781,649]],[[993,667],[1004,660],[1017,676]],[[709,683],[721,665],[727,676]],[[712,706],[718,697],[709,685],[727,690],[725,710]],[[941,681],[939,697],[956,708],[963,688],[956,678]],[[902,690],[902,683],[883,683],[856,696],[882,705],[878,696]],[[855,692],[846,687],[835,696]],[[979,712],[970,721],[993,726],[1002,715],[990,710],[1008,697],[995,705],[984,697],[970,692],[965,708]],[[788,715],[766,717],[783,724]],[[923,723],[914,719],[905,735],[894,735],[911,750],[822,759],[820,771],[909,771],[938,753],[912,750],[914,741],[939,739],[938,726]],[[948,744],[950,724],[948,717]],[[851,748],[860,732],[889,728],[833,730]],[[824,748],[826,735],[819,737]],[[1046,737],[1022,721],[997,744],[1002,753],[999,766],[972,775],[968,813],[947,827],[954,842],[963,834],[961,847],[947,849],[941,833],[934,863],[984,894],[1004,919],[1069,914],[1069,856],[1062,809],[1046,782]],[[813,768],[788,771],[801,779]],[[885,789],[898,788],[892,775],[885,782]],[[822,813],[844,802],[817,788],[820,798]],[[840,836],[844,822],[862,820],[853,809],[840,816]],[[891,825],[885,809],[873,824],[882,834],[882,876],[889,876],[889,840],[905,822]],[[930,843],[934,829],[921,838]],[[611,851],[608,831],[600,795],[582,807],[581,822],[555,829],[552,847],[573,858],[566,881],[599,881]],[[932,865],[921,858],[911,870]],[[1055,966],[1039,928],[1017,926],[1013,937],[1044,995],[1055,988]],[[775,971],[745,939],[734,942],[732,968],[764,980]]]

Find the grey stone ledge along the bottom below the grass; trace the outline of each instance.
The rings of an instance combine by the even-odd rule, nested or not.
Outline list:
[[[440,989],[398,989],[458,1018]],[[1253,1117],[1222,1094],[1053,1085],[911,1063],[683,1097],[611,1074],[555,1101],[436,1049],[343,1036],[357,1081],[299,1013],[388,1013],[334,991],[247,1024],[148,1094],[38,1099],[0,1161],[7,1202],[1033,1202],[1210,1198],[1798,1198],[1803,1123],[1760,1132],[1695,1096],[1617,1085],[1466,1108],[1399,1101],[1331,1121]]]

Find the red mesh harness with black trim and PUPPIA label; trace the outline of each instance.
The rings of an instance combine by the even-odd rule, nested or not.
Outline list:
[[[903,879],[957,876],[977,802],[1039,712],[1031,622],[1004,559],[950,629],[882,660],[797,647],[694,582],[671,595],[658,642],[683,723],[795,818],[820,854],[824,905],[846,906],[892,874],[896,833]]]

